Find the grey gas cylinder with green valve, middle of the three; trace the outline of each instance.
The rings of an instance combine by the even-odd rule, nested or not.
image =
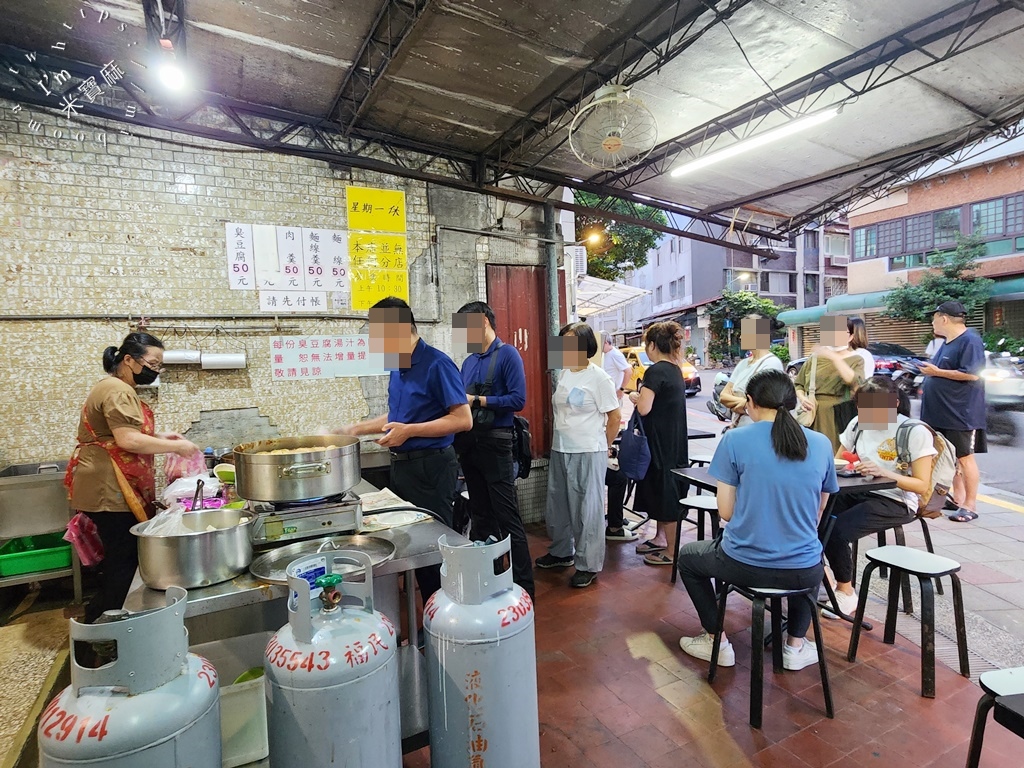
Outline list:
[[[304,557],[287,572],[288,624],[263,658],[270,765],[400,768],[397,638],[374,610],[369,555]]]

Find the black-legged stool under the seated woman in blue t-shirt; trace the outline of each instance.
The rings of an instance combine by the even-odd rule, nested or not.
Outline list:
[[[772,670],[782,672],[782,598],[792,597],[806,600],[811,611],[811,624],[814,627],[814,642],[818,651],[818,672],[821,675],[821,690],[825,699],[825,715],[836,717],[833,710],[831,686],[828,684],[828,667],[825,664],[825,646],[821,639],[821,620],[818,617],[817,603],[814,600],[818,587],[805,590],[775,590],[760,587],[736,587],[730,584],[719,584],[718,625],[715,629],[715,645],[711,651],[711,669],[708,670],[708,682],[715,682],[718,672],[718,651],[722,643],[722,632],[725,627],[725,603],[730,592],[739,592],[754,601],[753,626],[751,628],[751,727],[760,728],[764,710],[764,647],[765,647],[765,603],[771,604],[771,656]]]

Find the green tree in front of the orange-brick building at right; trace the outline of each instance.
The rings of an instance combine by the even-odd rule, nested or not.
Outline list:
[[[992,293],[992,281],[975,272],[985,244],[977,234],[957,236],[956,248],[933,253],[929,268],[916,285],[900,281],[886,296],[885,314],[908,321],[930,319],[930,312],[943,301],[959,301],[968,312],[984,306]]]

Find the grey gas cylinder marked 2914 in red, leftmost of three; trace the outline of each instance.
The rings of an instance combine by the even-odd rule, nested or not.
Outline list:
[[[185,597],[112,624],[71,622],[71,685],[39,719],[39,765],[220,768],[217,671],[188,652]],[[117,658],[80,667],[76,643],[109,643]]]

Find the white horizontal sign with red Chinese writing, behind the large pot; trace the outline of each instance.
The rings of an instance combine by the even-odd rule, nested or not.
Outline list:
[[[273,381],[379,376],[368,336],[279,336],[270,340]]]

